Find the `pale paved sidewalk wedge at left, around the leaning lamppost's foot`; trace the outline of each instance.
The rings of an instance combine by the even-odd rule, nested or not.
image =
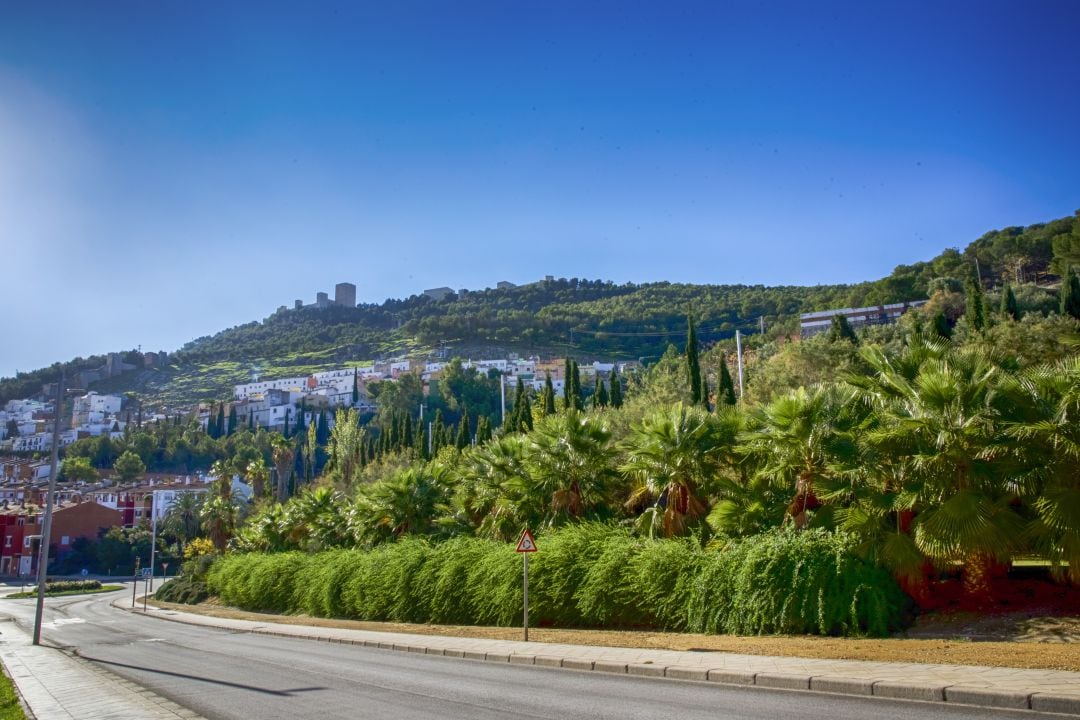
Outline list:
[[[176,720],[200,716],[0,622],[0,662],[38,720]]]

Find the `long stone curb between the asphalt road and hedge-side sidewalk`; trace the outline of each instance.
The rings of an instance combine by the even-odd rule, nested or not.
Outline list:
[[[140,612],[131,607],[123,607],[122,600],[111,604],[127,612]],[[147,614],[158,620],[164,620],[184,625],[214,627],[212,623],[194,623],[183,615],[166,616]],[[208,617],[200,615],[201,617]],[[302,627],[291,625],[289,627]],[[636,677],[664,678],[694,682],[714,682],[730,687],[755,687],[769,690],[794,690],[800,692],[826,693],[833,695],[856,695],[862,697],[882,697],[887,699],[916,701],[922,703],[947,703],[968,707],[987,707],[996,709],[1035,710],[1054,715],[1080,716],[1080,695],[1059,695],[1041,692],[998,691],[989,688],[967,687],[962,684],[919,685],[903,682],[872,680],[869,678],[848,678],[834,675],[792,675],[782,673],[753,673],[724,668],[705,669],[699,666],[656,665],[652,663],[626,664],[604,660],[590,660],[580,656],[529,655],[503,652],[484,652],[460,648],[434,648],[424,644],[403,644],[379,640],[363,640],[327,637],[326,635],[284,633],[265,626],[248,629],[228,628],[232,631],[251,635],[267,635],[272,637],[295,638],[299,640],[315,640],[339,644],[357,646],[372,650],[390,650],[413,652],[443,657],[456,657],[502,665],[532,665],[539,667],[555,667],[566,670],[604,673],[607,675],[626,675]],[[367,630],[374,631],[374,630]],[[417,636],[418,639],[423,636]]]

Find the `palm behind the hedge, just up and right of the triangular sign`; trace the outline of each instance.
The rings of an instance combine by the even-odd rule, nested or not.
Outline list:
[[[576,410],[549,416],[527,439],[523,480],[543,499],[545,525],[608,508],[617,473],[611,433],[602,419]]]

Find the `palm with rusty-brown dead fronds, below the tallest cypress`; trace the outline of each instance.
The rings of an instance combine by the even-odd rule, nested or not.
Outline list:
[[[708,481],[715,476],[716,441],[710,416],[681,403],[634,425],[623,444],[622,471],[636,483],[629,506],[652,501],[640,521],[648,534],[683,534],[705,513]]]

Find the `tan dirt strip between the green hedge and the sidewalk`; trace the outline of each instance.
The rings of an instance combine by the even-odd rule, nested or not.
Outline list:
[[[470,638],[521,639],[518,628],[454,625],[414,625],[327,620],[306,615],[268,615],[224,607],[153,602],[157,607],[217,617],[257,622],[343,627],[386,633],[413,633]],[[919,619],[905,637],[888,639],[823,638],[813,636],[737,637],[638,630],[529,628],[540,642],[658,648],[747,655],[887,661],[944,665],[1044,668],[1080,673],[1080,608],[1077,614],[1049,616],[1037,611],[976,615],[932,613]]]

